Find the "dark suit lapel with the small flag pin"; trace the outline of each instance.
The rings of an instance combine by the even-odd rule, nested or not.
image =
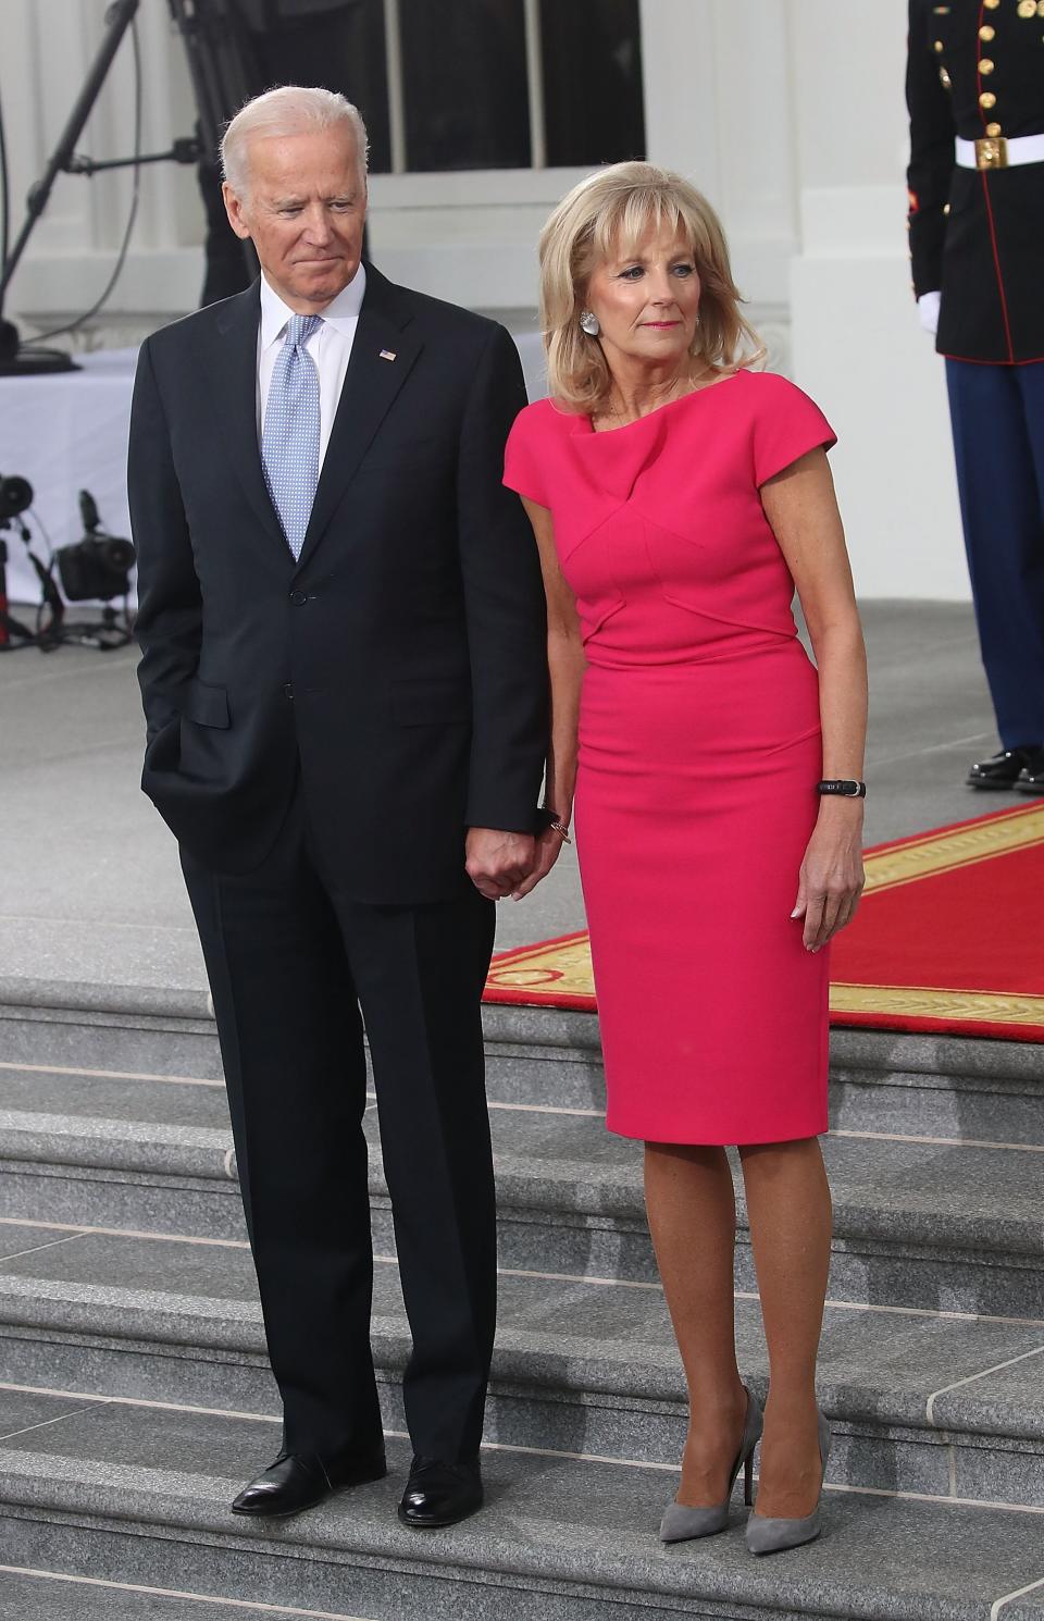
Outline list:
[[[300,564],[308,562],[319,545],[358,464],[420,355],[423,344],[409,331],[412,318],[412,310],[392,282],[368,264],[366,295],[352,342],[352,358],[326,447]],[[384,358],[381,350],[394,355],[394,360]]]

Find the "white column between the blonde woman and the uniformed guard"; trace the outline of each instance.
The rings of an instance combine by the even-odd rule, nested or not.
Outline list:
[[[840,434],[864,597],[966,598],[943,361],[906,253],[905,0],[788,0],[801,177],[793,376]]]

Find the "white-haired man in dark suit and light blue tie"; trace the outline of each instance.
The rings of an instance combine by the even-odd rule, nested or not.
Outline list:
[[[543,593],[501,486],[514,345],[362,264],[365,152],[329,91],[248,104],[225,203],[261,282],[143,345],[143,788],[182,846],[284,1402],[279,1459],[233,1508],[384,1473],[365,1020],[413,1334],[399,1512],[443,1525],[481,1501],[480,994],[491,901],[535,866]]]

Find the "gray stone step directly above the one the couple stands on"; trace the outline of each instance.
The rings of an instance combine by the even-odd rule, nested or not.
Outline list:
[[[276,1414],[245,1247],[0,1227],[0,1383]],[[744,1376],[768,1365],[736,1302]],[[409,1331],[374,1279],[386,1423],[404,1428]],[[832,1482],[1044,1509],[1044,1323],[827,1305],[819,1391]],[[658,1287],[503,1274],[488,1439],[658,1465],[681,1457],[684,1378]]]

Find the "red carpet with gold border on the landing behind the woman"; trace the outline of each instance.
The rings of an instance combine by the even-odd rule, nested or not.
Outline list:
[[[833,1024],[1044,1041],[1044,804],[877,845],[866,874]],[[593,1012],[587,934],[503,952],[486,1002]]]

